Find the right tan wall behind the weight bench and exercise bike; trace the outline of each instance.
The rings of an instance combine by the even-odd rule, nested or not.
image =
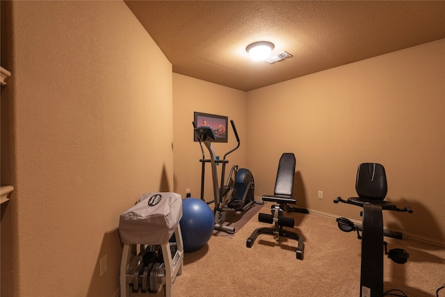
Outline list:
[[[358,207],[332,200],[356,195],[359,163],[382,163],[387,200],[414,210],[385,211],[385,225],[445,241],[444,53],[442,39],[249,92],[257,193],[273,191],[281,154],[293,152],[298,204],[359,220]]]

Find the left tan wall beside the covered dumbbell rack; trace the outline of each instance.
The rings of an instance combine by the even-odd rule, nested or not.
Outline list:
[[[122,1],[11,8],[13,296],[114,296],[119,215],[173,189],[172,66]]]

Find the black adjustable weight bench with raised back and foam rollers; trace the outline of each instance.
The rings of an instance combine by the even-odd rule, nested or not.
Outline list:
[[[295,175],[296,159],[293,153],[284,153],[278,164],[277,179],[275,181],[275,190],[273,195],[264,195],[263,201],[275,202],[271,207],[272,214],[258,214],[258,220],[263,223],[275,223],[275,227],[261,227],[254,230],[247,240],[247,247],[252,248],[255,239],[260,234],[275,234],[275,240],[280,241],[280,236],[298,241],[296,250],[297,259],[303,258],[303,238],[301,235],[284,229],[284,227],[294,226],[293,218],[284,216],[284,211],[297,211],[308,214],[307,209],[290,207],[288,204],[296,204],[297,200],[292,197],[293,179]]]

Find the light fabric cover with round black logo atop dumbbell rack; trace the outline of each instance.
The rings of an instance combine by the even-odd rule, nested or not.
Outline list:
[[[143,194],[138,202],[120,215],[122,243],[163,244],[168,242],[182,218],[182,198],[172,192]]]

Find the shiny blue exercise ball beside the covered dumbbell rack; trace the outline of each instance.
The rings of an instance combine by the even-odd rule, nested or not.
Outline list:
[[[194,252],[206,245],[213,227],[215,218],[213,211],[206,202],[198,198],[186,198],[182,200],[181,226],[184,252]]]

